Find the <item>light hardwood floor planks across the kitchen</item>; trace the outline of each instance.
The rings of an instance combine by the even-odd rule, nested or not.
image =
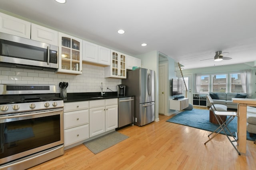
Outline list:
[[[173,116],[173,115],[172,115]],[[83,144],[30,170],[255,170],[256,145],[247,140],[247,156],[239,156],[226,136],[209,143],[208,131],[160,121],[118,132],[128,139],[98,154]]]

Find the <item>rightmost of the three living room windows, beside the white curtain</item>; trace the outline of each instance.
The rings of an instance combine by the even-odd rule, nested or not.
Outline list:
[[[240,73],[230,74],[230,92],[245,93]]]

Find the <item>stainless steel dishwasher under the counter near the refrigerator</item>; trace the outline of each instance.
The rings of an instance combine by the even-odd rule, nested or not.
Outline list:
[[[118,98],[118,128],[134,124],[134,97]]]

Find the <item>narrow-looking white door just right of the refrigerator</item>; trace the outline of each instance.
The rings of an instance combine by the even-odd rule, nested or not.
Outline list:
[[[158,97],[159,97],[159,114],[165,114],[165,65],[159,64],[159,74],[158,74]]]

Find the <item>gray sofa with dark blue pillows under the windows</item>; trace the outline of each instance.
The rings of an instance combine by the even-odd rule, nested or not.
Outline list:
[[[232,98],[247,98],[246,93],[210,92],[209,95],[214,104],[223,104],[230,109],[237,109],[237,104],[232,102]]]

